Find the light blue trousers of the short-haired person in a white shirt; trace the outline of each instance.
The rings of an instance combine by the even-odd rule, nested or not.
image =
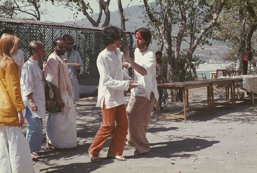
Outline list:
[[[30,109],[26,106],[25,118],[28,122],[26,139],[30,145],[30,152],[41,150],[43,141],[43,119],[33,117]]]

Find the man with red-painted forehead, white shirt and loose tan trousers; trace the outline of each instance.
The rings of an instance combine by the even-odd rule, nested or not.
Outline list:
[[[148,48],[152,35],[148,28],[142,27],[135,31],[135,60],[129,57],[128,47],[124,47],[124,58],[134,69],[134,80],[139,84],[131,89],[130,100],[127,105],[128,140],[125,145],[136,147],[134,155],[141,155],[150,151],[146,131],[151,116],[155,98],[159,98],[157,91],[156,60],[154,53]]]

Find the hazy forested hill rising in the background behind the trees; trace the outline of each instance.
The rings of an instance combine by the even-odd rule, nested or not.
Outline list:
[[[128,21],[125,22],[126,26],[126,31],[129,32],[134,32],[135,28],[139,28],[142,26],[146,26],[148,19],[144,18],[144,14],[142,14],[142,8],[140,8],[138,5],[130,6],[128,8],[124,8],[125,12],[125,18],[128,18]],[[93,13],[92,18],[94,20],[97,19],[98,17],[97,11]],[[110,11],[110,25],[118,26],[121,27],[121,22],[120,22],[120,16],[118,14],[118,10],[112,12]],[[101,23],[99,24],[99,27],[102,26],[105,20],[105,14],[103,13]],[[145,21],[145,23],[143,22]],[[92,26],[91,23],[87,20],[85,17],[83,20],[73,20],[73,21],[65,21],[64,23],[70,23],[70,24],[80,24],[80,25],[87,25],[87,26]],[[171,33],[172,36],[177,36],[179,31],[178,27],[173,27],[173,32]],[[200,59],[203,62],[208,62],[208,63],[217,63],[223,61],[222,59],[222,53],[227,51],[227,46],[225,46],[222,43],[219,43],[217,41],[212,41],[213,46],[205,46],[205,50],[202,49],[196,49],[194,55],[198,55]],[[182,48],[186,48],[188,45],[182,44]],[[153,52],[156,52],[160,49],[160,46],[157,45],[156,41],[152,41],[152,44],[150,44],[150,49]],[[181,49],[182,50],[182,49]]]

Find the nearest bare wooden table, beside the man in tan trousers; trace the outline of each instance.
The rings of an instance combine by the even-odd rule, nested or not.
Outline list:
[[[213,105],[212,105],[212,92],[211,92],[211,81],[207,80],[199,80],[199,81],[188,81],[188,82],[173,82],[173,83],[163,83],[158,84],[157,89],[174,89],[174,90],[182,90],[183,93],[183,111],[175,114],[159,114],[158,109],[157,113],[157,121],[158,117],[173,117],[173,118],[184,118],[185,123],[187,122],[187,112],[191,111],[210,111],[213,114]],[[188,107],[188,89],[193,88],[207,88],[207,108],[189,108]],[[159,108],[158,100],[156,101],[156,107]],[[184,115],[181,115],[184,114]],[[189,115],[188,115],[189,116]]]

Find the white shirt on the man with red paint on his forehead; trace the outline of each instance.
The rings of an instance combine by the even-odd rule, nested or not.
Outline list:
[[[159,93],[157,90],[156,76],[156,60],[154,53],[148,48],[144,52],[140,52],[138,48],[135,49],[135,63],[142,66],[147,74],[142,76],[134,70],[134,80],[139,82],[136,88],[131,89],[131,93],[135,96],[146,97],[150,100],[151,92],[154,93],[155,98],[158,100]]]

